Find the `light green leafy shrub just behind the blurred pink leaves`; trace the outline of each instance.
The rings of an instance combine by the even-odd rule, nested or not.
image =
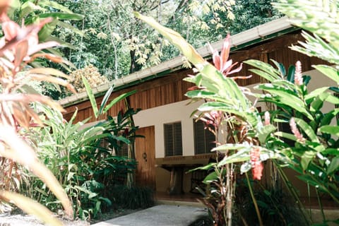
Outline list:
[[[76,114],[67,122],[61,112],[41,105],[37,105],[37,110],[44,112],[46,117],[42,119],[44,127],[32,129],[30,139],[36,145],[40,160],[53,172],[71,198],[73,208],[76,210],[75,215],[84,217],[83,211],[92,208],[88,207],[89,203],[95,202],[93,206],[100,207],[95,198],[107,201],[100,196],[97,197],[95,191],[88,189],[89,184],[91,186],[95,184],[91,168],[97,166],[95,147],[90,145],[102,136],[100,133],[104,128],[92,126],[81,129],[85,121],[73,124]],[[93,159],[88,161],[90,157]],[[100,184],[95,185],[96,189],[100,188]],[[52,210],[59,210],[59,203],[39,178],[31,177],[28,184],[25,184],[25,191]]]

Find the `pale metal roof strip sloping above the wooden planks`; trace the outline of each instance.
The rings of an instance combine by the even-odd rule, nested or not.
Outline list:
[[[258,42],[262,42],[263,40],[269,40],[273,37],[278,37],[280,35],[291,32],[291,30],[296,29],[297,28],[292,26],[287,17],[279,18],[277,20],[264,23],[263,25],[258,25],[255,28],[251,28],[236,35],[232,35],[231,52],[237,49],[248,47]],[[220,51],[222,49],[223,42],[224,40],[220,40],[218,42],[214,42],[213,44],[211,44],[211,46],[213,47],[213,49],[218,49],[218,51]],[[211,55],[210,48],[207,45],[197,49],[197,51],[199,54],[201,54],[202,57],[209,57]],[[165,76],[172,71],[182,69],[182,64],[182,56],[174,57],[173,59],[162,62],[161,64],[158,64],[156,66],[151,66],[148,69],[143,69],[122,78],[115,79],[114,81],[111,81],[107,84],[99,85],[93,88],[93,93],[95,97],[100,97],[102,95],[105,95],[106,91],[112,85],[114,85],[114,90],[121,90],[123,88],[127,88],[153,78]],[[88,95],[86,92],[82,92],[59,100],[59,104],[63,107],[68,107],[71,105],[75,105],[76,103],[83,102],[85,100],[88,100]]]

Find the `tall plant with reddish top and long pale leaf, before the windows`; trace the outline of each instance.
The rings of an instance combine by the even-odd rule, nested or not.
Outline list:
[[[253,142],[256,141],[251,141],[251,139],[247,138],[249,137],[247,131],[254,129],[253,124],[261,126],[261,119],[258,117],[258,112],[252,110],[251,102],[242,93],[237,83],[232,78],[227,77],[230,73],[237,71],[237,69],[231,71],[233,67],[232,61],[227,61],[230,52],[228,39],[224,44],[221,56],[217,52],[213,54],[213,61],[215,63],[218,62],[215,68],[204,60],[194,47],[188,44],[177,32],[162,27],[153,18],[148,18],[138,13],[136,13],[136,16],[153,26],[160,34],[174,43],[189,61],[196,66],[196,69],[200,71],[198,75],[186,79],[197,85],[196,90],[191,90],[186,95],[196,100],[214,100],[213,102],[204,103],[201,107],[198,107],[198,110],[200,112],[210,112],[209,116],[215,127],[215,134],[219,134],[219,129],[222,129],[222,123],[226,123],[234,131],[229,133],[230,137],[227,137],[227,133],[223,133],[225,137],[222,140],[217,140],[217,143],[220,145],[220,142],[233,140],[234,142],[251,142],[251,145],[253,145]],[[223,73],[225,73],[225,76]],[[231,90],[232,92],[230,92]],[[228,114],[222,112],[227,112]],[[249,118],[249,122],[252,124],[249,124],[246,118]],[[239,135],[235,131],[244,131],[244,133]],[[217,153],[217,162],[210,163],[206,167],[201,167],[201,169],[214,169],[204,180],[209,188],[203,203],[211,211],[215,225],[232,224],[232,205],[235,191],[234,177],[236,176],[234,174],[235,165],[230,164],[232,162],[224,161],[232,153],[234,153],[232,148],[222,154]]]

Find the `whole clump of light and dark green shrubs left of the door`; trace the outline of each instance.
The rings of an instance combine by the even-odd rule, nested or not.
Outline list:
[[[95,113],[95,119],[106,116],[109,109],[135,93],[122,94],[107,103],[113,87],[109,89],[97,107],[93,90],[84,76],[81,76]],[[120,156],[122,145],[133,143],[135,131],[131,117],[138,110],[120,111],[117,119],[108,117],[92,126],[85,126],[89,119],[74,124],[77,111],[70,121],[65,121],[61,112],[37,105],[42,112],[44,127],[30,131],[30,140],[37,146],[39,158],[49,169],[71,197],[74,215],[90,220],[103,210],[112,206],[110,189],[116,185],[127,184],[136,169],[136,160]],[[133,177],[131,177],[133,178]],[[53,210],[59,210],[59,202],[52,196],[44,182],[30,178],[25,184],[28,195],[36,197]]]

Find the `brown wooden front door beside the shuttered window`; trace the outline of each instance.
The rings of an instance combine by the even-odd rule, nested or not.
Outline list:
[[[136,138],[136,184],[155,189],[154,126],[139,128],[136,134],[145,136]]]

